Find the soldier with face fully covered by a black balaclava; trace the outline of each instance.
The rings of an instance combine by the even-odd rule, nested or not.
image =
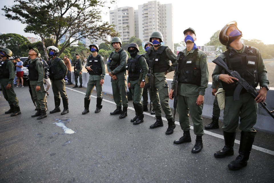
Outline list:
[[[144,56],[139,55],[139,47],[136,43],[128,45],[130,58],[127,61],[128,70],[128,88],[133,96],[133,106],[136,116],[130,120],[134,125],[144,122],[143,106],[141,103],[143,88],[145,85],[145,76],[148,73],[148,64]]]

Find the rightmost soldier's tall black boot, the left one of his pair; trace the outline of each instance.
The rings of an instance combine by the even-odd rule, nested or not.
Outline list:
[[[223,158],[225,156],[232,156],[234,154],[234,141],[235,141],[236,132],[229,133],[223,132],[223,138],[225,139],[225,146],[222,150],[214,153],[215,158]]]

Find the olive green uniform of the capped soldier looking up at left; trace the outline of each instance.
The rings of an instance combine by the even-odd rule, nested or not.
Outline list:
[[[38,59],[38,57],[36,57],[35,59]],[[33,63],[35,61],[35,59],[26,59],[25,62],[23,63],[23,66],[27,66],[30,63]],[[32,96],[33,99],[36,103],[37,109],[41,109],[42,111],[46,110],[46,90],[45,90],[45,86],[44,86],[44,67],[43,67],[43,62],[40,60],[37,60],[35,62],[35,69],[38,72],[38,80],[37,81],[29,81],[30,85],[31,85],[31,92],[32,92]],[[40,90],[36,91],[36,86],[40,86]]]

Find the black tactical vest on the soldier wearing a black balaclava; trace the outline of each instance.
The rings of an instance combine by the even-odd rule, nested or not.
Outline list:
[[[142,55],[137,55],[134,59],[129,58],[126,64],[126,70],[128,70],[128,77],[130,80],[135,81],[139,79],[140,73],[142,73],[142,69],[138,64],[138,59]]]

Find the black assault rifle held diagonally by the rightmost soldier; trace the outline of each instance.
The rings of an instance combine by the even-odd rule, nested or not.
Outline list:
[[[212,61],[213,63],[219,65],[220,67],[222,67],[225,71],[227,71],[232,77],[235,77],[237,79],[239,79],[238,81],[236,81],[235,83],[237,84],[234,94],[233,94],[233,100],[239,100],[240,99],[240,92],[243,88],[246,89],[246,91],[255,99],[258,96],[257,90],[255,87],[249,85],[242,77],[241,75],[237,72],[237,71],[232,71],[229,70],[227,65],[225,64],[225,62],[220,58],[217,57],[216,59],[214,59]],[[266,103],[265,102],[259,102],[259,104],[261,104],[261,106],[267,111],[267,113],[274,118],[274,114],[272,111],[269,111],[269,109],[267,109],[266,107]]]

